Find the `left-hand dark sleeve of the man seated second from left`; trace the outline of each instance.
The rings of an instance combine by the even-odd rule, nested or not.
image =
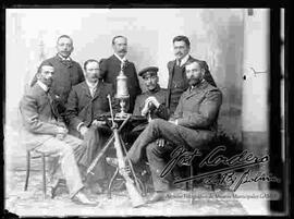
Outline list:
[[[83,121],[77,117],[78,115],[78,97],[74,88],[72,88],[66,104],[65,118],[69,126],[74,130],[77,130],[78,124]]]

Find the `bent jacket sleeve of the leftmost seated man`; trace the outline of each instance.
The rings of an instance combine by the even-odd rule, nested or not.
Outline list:
[[[58,134],[58,125],[39,119],[38,104],[32,95],[25,95],[20,104],[20,110],[25,127],[37,134]]]

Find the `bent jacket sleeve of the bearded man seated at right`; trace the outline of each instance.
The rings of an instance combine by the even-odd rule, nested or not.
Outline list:
[[[207,129],[216,120],[222,95],[219,90],[210,90],[206,94],[198,112],[193,112],[186,118],[177,119],[177,124],[192,129]]]

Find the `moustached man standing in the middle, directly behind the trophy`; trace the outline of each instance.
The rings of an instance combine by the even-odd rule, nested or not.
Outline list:
[[[125,76],[127,76],[127,89],[130,94],[128,113],[132,113],[136,97],[142,93],[137,72],[133,62],[126,60],[127,39],[124,36],[115,36],[112,39],[114,54],[101,61],[101,72],[105,75],[105,82],[113,84],[117,90],[117,76],[123,66]]]

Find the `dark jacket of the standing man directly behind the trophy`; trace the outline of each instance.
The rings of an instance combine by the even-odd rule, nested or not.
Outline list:
[[[117,76],[121,71],[121,61],[113,54],[100,62],[101,72],[105,74],[105,82],[113,84],[117,92]],[[130,94],[130,106],[127,112],[132,113],[135,106],[137,95],[142,93],[137,72],[133,62],[126,62],[124,74],[127,76],[127,88]]]

